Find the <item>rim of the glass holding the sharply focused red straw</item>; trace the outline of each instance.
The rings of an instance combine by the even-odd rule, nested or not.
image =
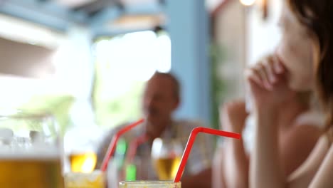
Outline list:
[[[128,181],[120,182],[119,188],[181,188],[181,182],[172,181]]]

